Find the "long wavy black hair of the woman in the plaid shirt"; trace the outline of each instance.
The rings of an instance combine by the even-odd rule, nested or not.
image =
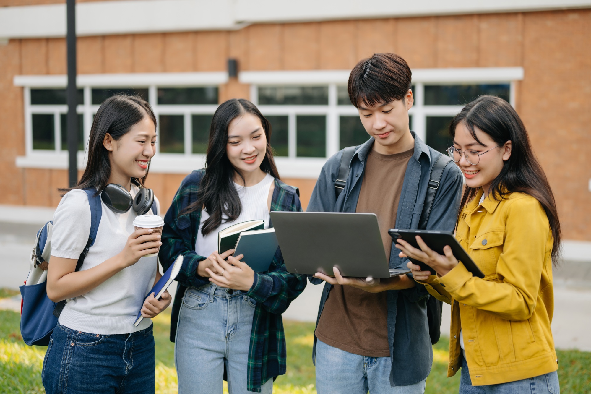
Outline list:
[[[234,175],[238,174],[243,181],[244,177],[230,163],[228,154],[226,154],[226,146],[228,145],[230,122],[246,113],[255,115],[261,120],[262,128],[267,136],[267,152],[262,160],[261,170],[279,179],[279,173],[273,160],[269,121],[248,100],[230,99],[223,102],[213,114],[212,125],[209,128],[205,175],[199,185],[199,197],[196,202],[180,212],[180,215],[184,215],[204,208],[209,214],[209,218],[203,222],[203,235],[219,227],[224,216],[228,218],[225,219],[225,222],[234,221],[242,211],[240,198],[234,187]]]

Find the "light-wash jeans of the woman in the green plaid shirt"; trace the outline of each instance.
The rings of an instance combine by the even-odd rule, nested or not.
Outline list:
[[[179,394],[221,394],[224,366],[228,392],[248,392],[246,373],[254,311],[254,301],[238,290],[212,284],[187,289],[174,342]],[[262,394],[272,390],[273,379],[261,386]]]

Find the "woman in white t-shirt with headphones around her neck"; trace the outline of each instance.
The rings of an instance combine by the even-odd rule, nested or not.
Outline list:
[[[134,218],[154,209],[131,208],[131,201],[144,185],[155,142],[150,104],[138,96],[106,99],[90,129],[82,179],[62,190],[67,193],[53,218],[47,296],[54,302],[68,301],[43,363],[47,393],[154,392],[150,318],[170,304],[171,296],[165,292],[157,300],[152,293],[144,302],[160,278],[158,257],[147,255],[155,254],[162,243],[152,229],[134,231]],[[126,211],[106,198],[107,185],[129,198]],[[76,272],[91,226],[85,189],[100,193],[102,215],[95,243]],[[140,309],[145,319],[134,327]]]

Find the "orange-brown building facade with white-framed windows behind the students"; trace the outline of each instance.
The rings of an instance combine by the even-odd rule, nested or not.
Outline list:
[[[64,12],[56,2],[0,0],[7,6],[0,7],[0,204],[56,206],[57,188],[67,186],[64,29],[35,19]],[[166,209],[183,177],[203,167],[217,105],[247,98],[271,121],[278,169],[300,188],[305,206],[327,157],[366,140],[346,92],[350,70],[373,53],[394,52],[413,70],[411,130],[444,150],[447,122],[463,104],[484,93],[505,98],[524,120],[550,179],[564,237],[591,240],[591,3],[466,9],[451,1],[456,8],[435,9],[433,2],[434,11],[419,4],[364,14],[328,0],[335,7],[309,15],[307,2],[285,10],[239,0],[207,6],[222,7],[210,9],[211,18],[201,9],[197,20],[178,23],[164,14],[183,14],[187,2],[150,8],[164,3],[77,6],[81,170],[100,103],[119,91],[135,92],[158,117],[148,186]],[[266,11],[257,14],[257,7]],[[100,12],[118,11],[118,18],[160,12],[164,21],[95,21]],[[3,18],[11,24],[2,27]],[[236,76],[228,73],[229,59],[238,64]]]

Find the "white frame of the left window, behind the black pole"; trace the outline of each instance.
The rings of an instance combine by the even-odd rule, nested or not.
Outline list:
[[[192,169],[201,168],[204,164],[204,154],[193,154],[192,149],[192,118],[193,114],[213,114],[217,109],[214,105],[159,105],[158,88],[193,88],[203,86],[217,86],[228,82],[226,72],[202,73],[133,73],[133,74],[99,74],[79,75],[77,88],[84,92],[84,104],[77,105],[77,113],[83,114],[84,143],[87,144],[93,115],[100,105],[92,104],[93,88],[142,88],[148,89],[148,102],[152,106],[154,115],[184,115],[184,153],[160,153],[157,151],[152,158],[150,170],[161,173],[187,173]],[[61,150],[61,128],[59,114],[67,113],[67,105],[32,105],[31,89],[53,88],[64,89],[67,78],[64,75],[31,75],[15,76],[14,85],[23,87],[24,116],[25,116],[25,156],[16,159],[17,167],[32,167],[46,169],[67,169],[68,152]],[[33,149],[33,114],[54,114],[54,150]],[[157,127],[160,135],[160,127]],[[78,168],[86,166],[85,151],[78,152]]]

